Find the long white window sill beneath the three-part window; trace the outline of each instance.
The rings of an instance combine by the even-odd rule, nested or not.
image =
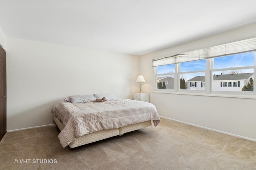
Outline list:
[[[174,90],[155,90],[153,93],[167,93],[175,95],[195,95],[195,96],[209,96],[209,97],[231,97],[231,98],[244,98],[244,99],[256,99],[256,95],[239,95],[239,94],[220,94],[220,93],[210,93],[207,94],[204,91],[198,91],[194,93],[192,91],[188,92],[175,92]]]

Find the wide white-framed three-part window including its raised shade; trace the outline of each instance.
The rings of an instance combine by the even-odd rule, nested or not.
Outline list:
[[[155,92],[166,89],[164,93],[241,94],[256,98],[255,57],[256,38],[252,38],[154,59]]]

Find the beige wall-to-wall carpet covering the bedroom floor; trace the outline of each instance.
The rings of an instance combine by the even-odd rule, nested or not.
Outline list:
[[[7,132],[0,169],[256,170],[256,142],[167,119],[73,149],[62,148],[58,133],[55,127]]]

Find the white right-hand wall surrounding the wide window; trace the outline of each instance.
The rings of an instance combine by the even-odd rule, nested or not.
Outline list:
[[[153,93],[152,59],[256,36],[256,24],[140,56],[143,91],[160,116],[256,140],[255,99]],[[184,107],[184,105],[186,107]]]

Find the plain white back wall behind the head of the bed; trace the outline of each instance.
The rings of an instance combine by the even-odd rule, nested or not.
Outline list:
[[[139,57],[7,38],[7,130],[49,125],[69,95],[138,92]]]

